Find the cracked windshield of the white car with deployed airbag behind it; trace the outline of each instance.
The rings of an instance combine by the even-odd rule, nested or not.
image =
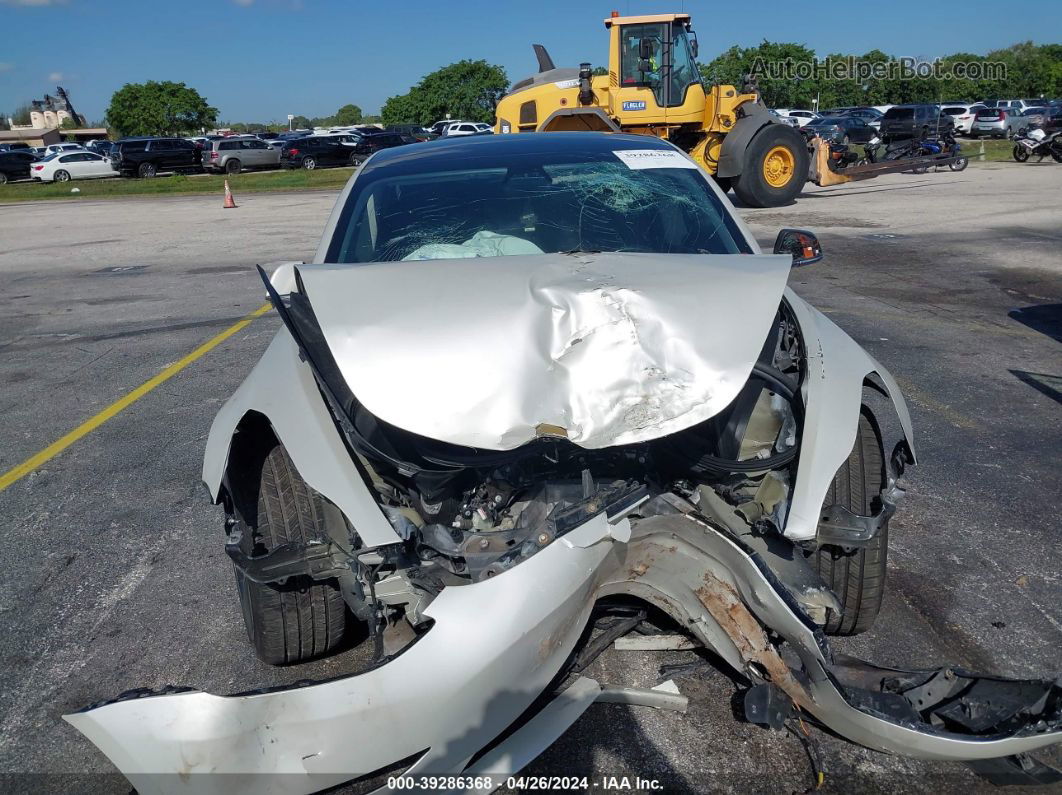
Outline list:
[[[327,261],[750,250],[697,167],[674,150],[506,160],[359,178]]]

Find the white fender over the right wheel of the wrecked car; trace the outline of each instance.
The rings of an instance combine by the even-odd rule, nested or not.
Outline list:
[[[800,324],[807,353],[804,434],[785,526],[787,538],[801,541],[815,538],[829,484],[852,452],[863,383],[869,375],[876,374],[892,398],[912,456],[914,431],[907,403],[892,375],[792,290],[786,290],[786,300]]]

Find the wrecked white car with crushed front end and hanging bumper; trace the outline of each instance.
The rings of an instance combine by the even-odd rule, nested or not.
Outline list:
[[[830,652],[878,611],[914,450],[892,377],[786,288],[819,256],[798,230],[763,254],[648,137],[374,155],[314,263],[267,281],[284,326],[215,420],[203,478],[261,658],[327,654],[363,622],[375,664],[67,720],[140,793],[503,776],[596,699],[673,698],[578,675],[603,647],[592,611],[619,600],[748,679],[757,723],[806,714],[930,759],[1059,742],[1050,678]]]

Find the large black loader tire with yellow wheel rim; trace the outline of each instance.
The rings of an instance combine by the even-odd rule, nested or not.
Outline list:
[[[786,124],[768,124],[744,151],[734,192],[748,207],[792,204],[807,180],[807,142]]]

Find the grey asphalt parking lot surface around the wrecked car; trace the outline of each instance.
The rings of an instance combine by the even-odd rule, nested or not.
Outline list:
[[[922,463],[892,523],[878,664],[1062,670],[1062,168],[975,166],[810,188],[741,210],[767,247],[817,231],[792,287],[904,387]],[[312,257],[336,192],[0,206],[0,472],[30,459],[263,303],[256,263]],[[210,420],[275,332],[263,314],[0,490],[0,781],[126,793],[59,720],[136,687],[217,693],[341,675],[246,643],[220,512],[200,486]],[[610,651],[592,674],[656,684],[690,653]],[[802,792],[803,746],[734,718],[734,684],[678,679],[686,714],[596,705],[532,771],[657,779],[667,792]],[[959,764],[812,730],[830,792],[991,789]],[[1058,763],[1058,754],[1055,754]],[[32,775],[31,775],[32,774]]]

